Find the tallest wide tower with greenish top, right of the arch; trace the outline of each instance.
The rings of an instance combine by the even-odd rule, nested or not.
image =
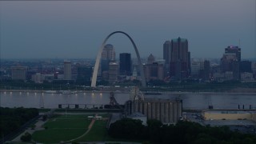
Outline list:
[[[186,78],[190,73],[188,42],[186,38],[171,40],[170,76],[178,80]]]

